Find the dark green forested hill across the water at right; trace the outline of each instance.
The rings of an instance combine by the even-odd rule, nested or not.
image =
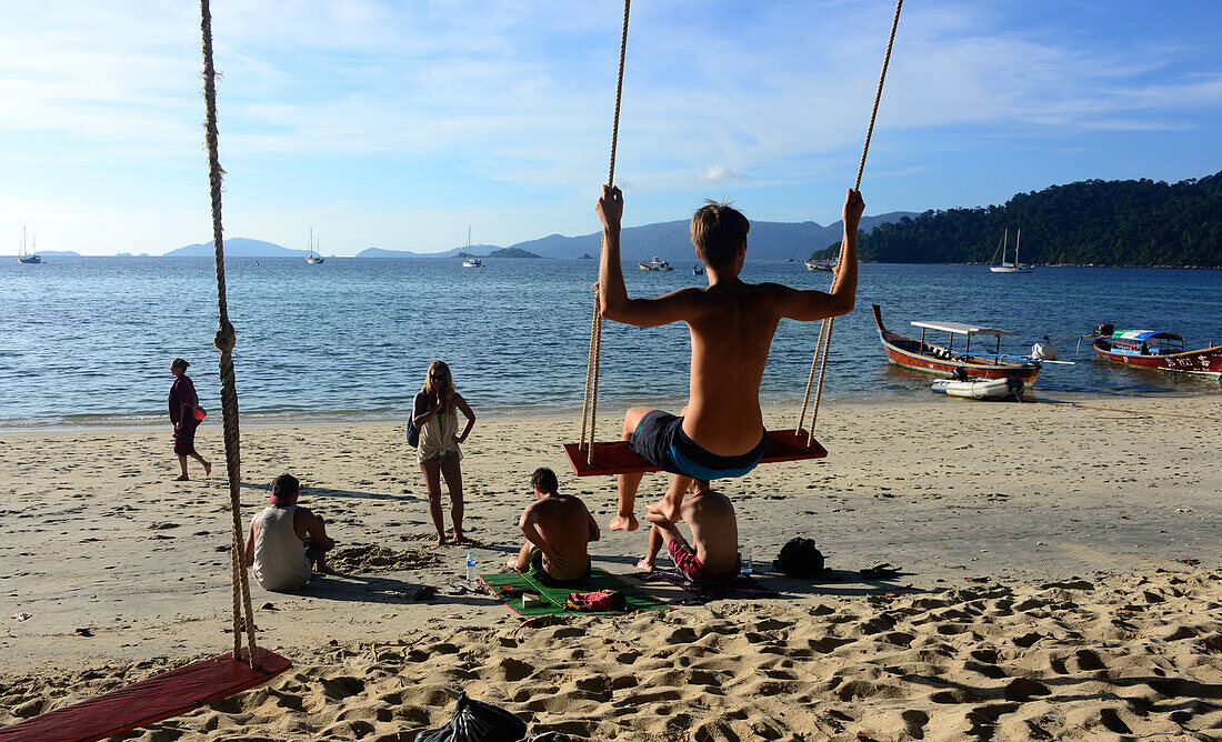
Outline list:
[[[1083,181],[1019,193],[1002,207],[925,211],[880,224],[862,260],[990,263],[1023,230],[1023,263],[1222,268],[1222,172],[1178,183]],[[830,257],[831,248],[813,257]]]

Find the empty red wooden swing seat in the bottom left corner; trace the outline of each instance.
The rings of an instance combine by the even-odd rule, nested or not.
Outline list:
[[[242,650],[249,658],[248,650]],[[87,742],[148,726],[264,683],[292,667],[287,659],[259,649],[259,669],[233,661],[229,652],[163,672],[126,688],[0,727],[0,741]]]

